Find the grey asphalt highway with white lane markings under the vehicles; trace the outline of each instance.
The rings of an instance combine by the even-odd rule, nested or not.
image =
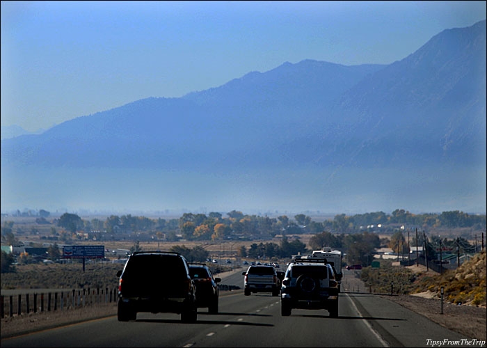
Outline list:
[[[241,273],[223,283],[241,285]],[[136,322],[97,319],[4,339],[1,347],[427,347],[428,338],[465,337],[371,294],[342,294],[338,318],[296,309],[281,317],[279,297],[237,290],[221,294],[218,315],[198,310],[195,324],[171,313],[138,313]]]

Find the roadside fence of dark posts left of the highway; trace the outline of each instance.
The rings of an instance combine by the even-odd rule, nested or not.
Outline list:
[[[62,292],[40,292],[33,294],[1,295],[1,318],[6,315],[50,312],[51,310],[72,310],[84,306],[99,306],[117,301],[117,289],[73,289]],[[6,308],[8,306],[8,308]]]

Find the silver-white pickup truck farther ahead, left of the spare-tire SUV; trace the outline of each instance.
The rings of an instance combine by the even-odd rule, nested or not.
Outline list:
[[[280,279],[272,266],[250,266],[242,272],[244,278],[244,294],[251,292],[272,292],[272,296],[279,296]]]

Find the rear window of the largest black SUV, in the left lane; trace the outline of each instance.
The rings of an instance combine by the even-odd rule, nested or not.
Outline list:
[[[179,278],[187,274],[184,261],[177,255],[133,255],[129,258],[123,278]]]

